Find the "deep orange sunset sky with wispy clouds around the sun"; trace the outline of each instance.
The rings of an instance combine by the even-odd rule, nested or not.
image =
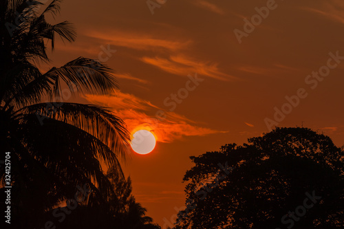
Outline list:
[[[136,199],[160,226],[184,206],[182,177],[191,155],[268,132],[266,118],[273,120],[275,107],[281,110],[299,89],[308,96],[279,127],[303,125],[343,146],[344,57],[333,58],[344,56],[343,1],[151,2],[160,2],[154,14],[145,0],[64,1],[56,22],[74,23],[78,38],[59,42],[49,65],[84,56],[114,69],[117,94],[77,101],[110,107],[129,131],[156,135],[152,153],[132,152],[124,169]],[[234,31],[244,33],[244,19],[267,4],[273,9],[266,19],[239,43]],[[308,76],[328,63],[336,65],[328,76]],[[178,91],[183,98],[173,102]],[[156,119],[157,111],[164,118]]]

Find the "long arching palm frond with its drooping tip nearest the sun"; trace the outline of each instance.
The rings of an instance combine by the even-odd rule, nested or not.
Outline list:
[[[129,133],[125,123],[104,107],[70,102],[39,103],[16,112],[17,118],[23,114],[39,114],[71,124],[98,138],[123,158],[129,149]]]

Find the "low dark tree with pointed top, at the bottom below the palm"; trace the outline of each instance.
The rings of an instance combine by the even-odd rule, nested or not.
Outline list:
[[[47,212],[36,225],[44,226],[52,221],[57,228],[121,228],[121,229],[160,229],[153,224],[151,217],[146,216],[147,210],[136,202],[131,194],[131,179],[118,175],[113,168],[107,173],[112,184],[111,194],[107,201],[97,202],[94,195],[89,196],[87,203],[67,212],[57,208]],[[67,212],[65,219],[54,217],[53,212]],[[55,214],[56,215],[56,214]]]

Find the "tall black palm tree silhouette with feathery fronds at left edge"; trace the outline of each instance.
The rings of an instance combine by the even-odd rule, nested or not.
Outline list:
[[[83,57],[45,73],[37,67],[50,61],[46,41],[54,49],[56,35],[76,38],[69,22],[45,21],[45,14],[58,14],[59,3],[0,3],[0,151],[11,152],[12,213],[22,216],[52,209],[73,197],[77,185],[107,195],[111,183],[102,164],[122,176],[119,160],[129,141],[124,123],[109,110],[59,99],[63,87],[111,93],[117,83],[109,67]],[[42,102],[45,97],[50,102]],[[3,185],[4,166],[0,172]]]

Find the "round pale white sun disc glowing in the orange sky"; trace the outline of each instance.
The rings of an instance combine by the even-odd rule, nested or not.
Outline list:
[[[131,148],[138,154],[148,154],[153,151],[155,147],[155,137],[151,131],[141,129],[133,133],[131,140]]]

